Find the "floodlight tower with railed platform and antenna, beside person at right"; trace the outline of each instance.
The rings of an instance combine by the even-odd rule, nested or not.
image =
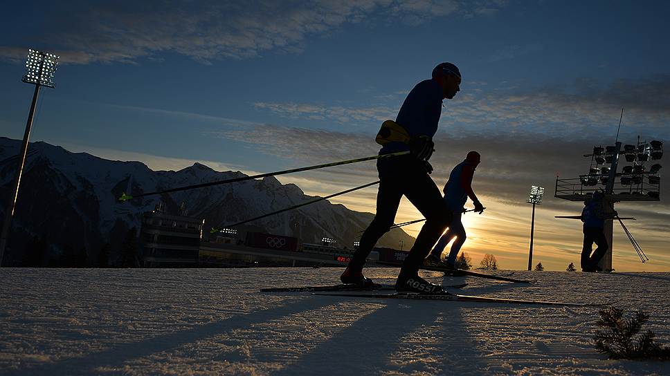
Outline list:
[[[622,118],[624,111],[622,109]],[[619,128],[621,120],[619,120]],[[637,136],[637,144],[623,145],[617,140],[612,146],[593,147],[590,157],[588,174],[580,175],[579,178],[559,179],[556,176],[556,193],[554,197],[570,201],[590,200],[593,192],[603,191],[604,214],[612,216],[615,212],[614,205],[621,201],[660,201],[660,173],[661,165],[654,163],[646,168],[646,162],[660,160],[663,156],[663,142],[653,140],[651,142],[640,141]],[[619,162],[632,163],[624,166],[622,172],[617,172]],[[653,162],[651,162],[653,163]],[[607,166],[606,164],[609,164]],[[646,182],[645,179],[646,178]],[[598,187],[600,185],[600,187]],[[579,218],[579,217],[577,217]],[[613,220],[605,220],[604,234],[607,239],[608,250],[601,259],[598,266],[604,272],[611,272],[612,250],[613,250]],[[646,260],[642,259],[642,262]]]

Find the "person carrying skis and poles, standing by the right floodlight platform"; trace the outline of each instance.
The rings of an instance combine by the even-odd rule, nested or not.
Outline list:
[[[600,191],[595,191],[590,200],[584,202],[581,211],[581,221],[584,223],[584,245],[581,249],[581,271],[602,272],[598,263],[605,256],[609,245],[605,236],[605,220],[617,216],[607,216],[604,209],[604,197]],[[597,245],[595,252],[591,254],[593,243]]]

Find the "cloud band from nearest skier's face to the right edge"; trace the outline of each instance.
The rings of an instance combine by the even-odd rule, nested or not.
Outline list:
[[[616,135],[624,107],[622,135],[667,138],[669,85],[670,75],[658,75],[608,83],[583,79],[570,86],[524,90],[492,88],[456,97],[447,104],[441,123],[457,132],[505,129],[572,140],[604,139]]]

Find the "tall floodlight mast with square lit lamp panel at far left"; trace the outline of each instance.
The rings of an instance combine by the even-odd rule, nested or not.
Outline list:
[[[24,142],[21,144],[21,151],[19,151],[19,166],[12,184],[12,190],[8,198],[7,208],[5,211],[5,220],[2,225],[2,234],[0,236],[0,264],[2,263],[2,256],[5,253],[7,245],[7,237],[14,216],[14,209],[16,207],[17,196],[19,194],[19,182],[21,182],[21,173],[24,170],[26,163],[26,153],[28,153],[28,139],[30,138],[30,128],[33,126],[33,116],[35,115],[35,107],[37,106],[37,95],[39,95],[39,88],[46,86],[54,88],[53,73],[56,71],[59,57],[51,53],[43,53],[36,50],[28,50],[28,59],[26,60],[26,74],[21,81],[26,84],[35,85],[35,93],[33,93],[33,104],[30,104],[30,113],[28,113],[28,122],[26,122],[26,131],[24,133]]]

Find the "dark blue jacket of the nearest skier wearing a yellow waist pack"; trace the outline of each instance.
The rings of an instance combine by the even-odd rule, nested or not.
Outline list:
[[[437,122],[440,121],[443,98],[442,87],[433,79],[424,79],[407,95],[395,122],[404,126],[410,137],[427,135],[433,138],[437,132]],[[379,153],[395,153],[409,149],[409,145],[403,142],[389,142]]]

